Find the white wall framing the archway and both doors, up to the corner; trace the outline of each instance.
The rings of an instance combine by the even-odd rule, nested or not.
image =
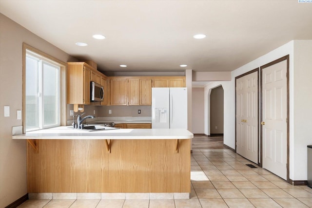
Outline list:
[[[246,72],[254,70],[260,66],[263,66],[273,60],[280,57],[290,55],[290,143],[293,147],[293,44],[294,41],[290,41],[279,48],[269,52],[268,54],[259,57],[244,66],[232,72],[231,81],[212,82],[205,87],[205,133],[210,134],[209,121],[208,121],[208,107],[210,102],[211,89],[222,85],[224,90],[224,144],[235,149],[235,77],[242,75]],[[293,150],[290,151],[291,157],[293,157]],[[291,158],[290,157],[290,158]],[[291,160],[291,159],[290,159]],[[293,160],[290,161],[290,165],[293,164]],[[291,168],[291,167],[290,167]],[[293,167],[292,167],[293,169]],[[293,179],[293,174],[290,175]],[[299,179],[293,179],[299,180]],[[303,180],[303,179],[302,179]]]

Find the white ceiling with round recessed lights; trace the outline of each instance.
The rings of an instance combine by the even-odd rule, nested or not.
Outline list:
[[[312,39],[312,3],[298,0],[0,0],[0,12],[104,74],[233,71]]]

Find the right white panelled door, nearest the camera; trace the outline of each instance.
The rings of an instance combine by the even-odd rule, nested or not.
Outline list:
[[[262,168],[287,180],[287,60],[262,70]]]

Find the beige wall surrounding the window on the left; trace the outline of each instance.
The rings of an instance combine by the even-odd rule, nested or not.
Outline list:
[[[21,126],[17,110],[22,110],[22,43],[63,62],[77,61],[59,48],[39,38],[0,14],[0,208],[27,193],[25,141],[12,140],[12,127]],[[10,106],[10,117],[4,117]]]

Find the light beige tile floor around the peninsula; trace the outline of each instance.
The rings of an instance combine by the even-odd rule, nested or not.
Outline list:
[[[292,186],[228,149],[193,149],[190,199],[28,200],[20,208],[312,208],[312,189]]]

